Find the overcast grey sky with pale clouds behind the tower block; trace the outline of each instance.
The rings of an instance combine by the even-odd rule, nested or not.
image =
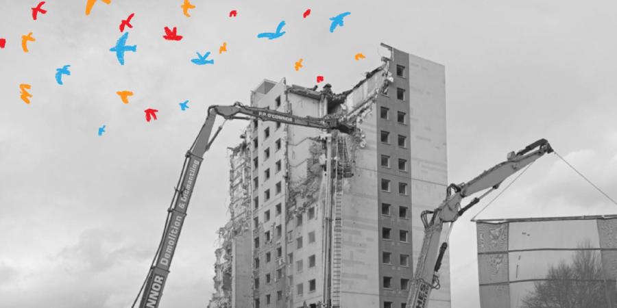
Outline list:
[[[380,65],[380,42],[446,67],[449,181],[469,181],[546,138],[617,198],[614,1],[193,0],[190,17],[180,0],[97,1],[88,16],[85,0],[47,1],[34,21],[38,2],[0,9],[0,307],[130,307],[206,107],[249,103],[263,79],[311,87],[322,75],[342,92]],[[133,12],[125,32],[136,52],[122,66],[109,49]],[[342,12],[351,14],[330,33],[328,18]],[[280,21],[284,36],[257,38]],[[182,40],[164,40],[166,26]],[[36,41],[25,53],[29,32]],[[206,51],[214,64],[191,62]],[[56,68],[67,64],[59,85]],[[20,84],[32,86],[29,104]],[[128,104],[121,90],[134,92]],[[145,120],[149,108],[157,120]],[[206,154],[161,307],[210,299],[216,231],[229,215],[226,148],[246,124],[228,121]],[[452,229],[453,308],[479,307],[470,219],[494,195]],[[547,155],[477,218],[616,213]]]

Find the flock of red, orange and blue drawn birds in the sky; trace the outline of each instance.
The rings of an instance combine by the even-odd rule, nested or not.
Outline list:
[[[111,0],[100,0],[100,1],[106,4],[111,3]],[[96,2],[97,0],[87,0],[86,1],[86,15],[90,14]],[[36,21],[38,14],[47,14],[47,10],[43,9],[43,5],[45,5],[45,1],[41,1],[40,3],[38,3],[38,5],[36,5],[36,7],[32,8],[32,19],[34,21]],[[184,16],[191,17],[191,14],[189,14],[189,10],[195,9],[195,5],[193,5],[190,2],[190,0],[184,0],[182,5],[180,5],[180,8],[182,8],[182,13],[184,14]],[[307,9],[306,11],[304,11],[304,13],[302,14],[302,17],[306,18],[307,16],[309,16],[309,14],[311,14],[311,9]],[[342,27],[343,18],[345,18],[346,16],[350,14],[351,14],[350,12],[343,12],[341,14],[338,14],[337,16],[331,17],[330,18],[330,21],[331,21],[330,33],[334,32],[335,29],[337,29],[337,27]],[[232,10],[229,12],[230,18],[236,17],[237,15],[238,15],[237,10]],[[137,51],[137,45],[127,45],[126,44],[129,33],[124,32],[125,27],[129,27],[129,28],[133,27],[133,25],[131,24],[131,19],[133,18],[133,16],[135,16],[135,13],[130,14],[126,19],[121,21],[119,29],[120,29],[120,32],[123,34],[117,40],[115,46],[109,49],[109,51],[116,53],[116,57],[120,65],[124,65],[125,52],[127,51],[136,52]],[[274,32],[262,32],[260,34],[257,34],[257,38],[267,38],[268,40],[274,40],[276,38],[280,38],[281,36],[284,36],[286,33],[285,31],[282,31],[283,27],[285,27],[285,21],[281,21],[280,23],[278,23],[278,25],[276,26],[276,30]],[[165,30],[165,36],[163,36],[163,38],[165,40],[176,40],[176,41],[182,40],[182,36],[178,35],[178,29],[176,29],[176,27],[173,27],[173,29],[169,29],[169,27],[165,27],[164,30]],[[32,32],[30,32],[27,35],[21,36],[21,48],[23,49],[23,52],[25,53],[28,52],[28,42],[36,42],[36,38],[32,36]],[[0,49],[4,49],[5,44],[6,44],[6,39],[0,38]],[[227,51],[227,42],[223,42],[221,47],[219,47],[219,54],[226,52],[226,51]],[[202,53],[199,53],[199,51],[197,51],[196,53],[197,53],[197,57],[194,59],[191,59],[191,62],[193,62],[193,64],[196,64],[196,65],[214,64],[215,60],[208,59],[208,57],[210,56],[210,51],[206,51],[203,55]],[[365,56],[362,53],[356,53],[355,55],[355,60],[360,60],[364,58]],[[302,61],[303,60],[300,59],[297,62],[295,62],[294,69],[296,71],[302,68]],[[71,65],[67,64],[67,65],[62,66],[61,68],[56,68],[56,83],[58,83],[58,85],[62,86],[63,84],[62,76],[63,75],[67,75],[67,76],[71,75],[71,71],[69,70],[69,67],[71,67]],[[324,81],[324,77],[317,76],[317,83],[322,82],[322,81]],[[21,99],[27,104],[30,103],[30,98],[33,97],[32,94],[29,93],[29,90],[31,89],[32,89],[32,86],[29,84],[19,85]],[[125,103],[125,104],[129,103],[129,97],[133,95],[133,92],[128,91],[128,90],[118,91],[116,93],[119,95],[122,103]],[[184,101],[182,103],[179,103],[180,109],[184,111],[187,108],[189,108],[188,103],[189,101]],[[145,118],[147,122],[149,122],[151,119],[156,120],[156,112],[158,112],[158,110],[149,108],[147,110],[144,110],[144,112],[145,112]],[[103,135],[103,133],[105,132],[105,128],[106,128],[106,125],[99,127],[99,130],[98,130],[99,136]]]

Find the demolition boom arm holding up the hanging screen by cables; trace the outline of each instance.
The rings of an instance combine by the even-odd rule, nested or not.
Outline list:
[[[496,190],[505,179],[535,162],[542,155],[551,152],[553,152],[551,144],[548,144],[545,139],[537,140],[517,153],[511,152],[507,156],[507,161],[485,170],[471,181],[459,185],[450,184],[446,190],[446,200],[434,211],[422,212],[424,241],[422,242],[420,256],[418,256],[414,279],[407,296],[407,307],[427,307],[431,290],[439,288],[439,267],[441,266],[441,258],[444,257],[448,247],[445,242],[439,247],[439,237],[444,222],[455,222],[459,216],[478,203],[481,198]],[[461,208],[461,201],[464,197],[487,188],[490,188],[490,190]],[[453,194],[452,190],[454,191]],[[430,221],[427,219],[429,214],[433,214]]]

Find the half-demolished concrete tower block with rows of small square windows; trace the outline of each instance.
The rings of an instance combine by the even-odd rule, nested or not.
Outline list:
[[[251,306],[234,307],[404,307],[420,212],[445,198],[445,73],[383,46],[390,56],[341,94],[285,79],[252,91],[252,106],[345,116],[357,129],[251,122]],[[351,170],[339,172],[343,163]],[[440,278],[431,308],[450,307],[448,255]]]

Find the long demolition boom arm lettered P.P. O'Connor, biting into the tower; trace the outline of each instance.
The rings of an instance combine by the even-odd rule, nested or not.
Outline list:
[[[242,114],[244,116],[239,116]],[[176,251],[178,238],[180,238],[180,231],[182,231],[182,224],[184,224],[184,218],[186,217],[186,209],[189,207],[189,201],[191,201],[191,195],[193,194],[199,167],[202,165],[204,153],[208,151],[210,144],[212,144],[222,128],[222,126],[219,127],[213,138],[210,139],[217,115],[228,120],[269,120],[317,129],[338,129],[344,133],[350,133],[353,130],[351,125],[347,125],[340,118],[294,116],[285,112],[277,112],[260,107],[248,107],[238,102],[230,106],[213,105],[208,107],[206,122],[199,131],[199,134],[197,134],[197,138],[195,138],[195,142],[193,142],[191,149],[186,152],[186,158],[182,165],[182,173],[180,174],[178,186],[173,193],[171,205],[169,209],[167,209],[168,214],[167,220],[165,221],[165,229],[163,230],[160,244],[154,255],[152,266],[144,283],[145,289],[143,289],[143,295],[139,304],[140,308],[156,308],[160,303],[162,291],[167,281],[167,275],[169,274],[171,259],[173,259],[173,254]]]

